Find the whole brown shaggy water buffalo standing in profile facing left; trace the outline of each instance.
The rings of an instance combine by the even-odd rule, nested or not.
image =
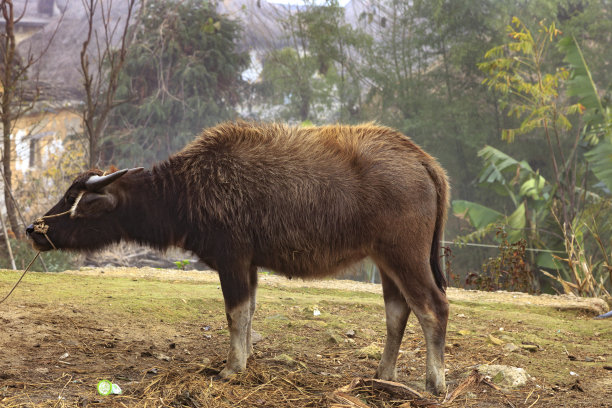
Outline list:
[[[369,256],[380,268],[387,324],[376,376],[396,378],[412,310],[427,344],[426,387],[440,394],[448,195],[437,161],[387,127],[224,123],[150,170],[79,175],[27,234],[42,251],[125,240],[197,254],[218,271],[225,300],[230,350],[221,377],[244,370],[253,351],[257,267],[317,278]]]

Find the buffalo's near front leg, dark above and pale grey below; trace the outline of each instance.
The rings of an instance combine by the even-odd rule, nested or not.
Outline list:
[[[246,369],[252,317],[249,271],[249,266],[236,264],[219,267],[219,280],[230,332],[230,349],[225,368],[219,373],[221,378],[227,378]]]

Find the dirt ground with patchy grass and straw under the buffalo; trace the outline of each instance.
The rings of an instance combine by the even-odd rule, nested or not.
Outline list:
[[[0,271],[0,295],[17,277]],[[247,371],[223,382],[213,379],[228,340],[215,274],[33,273],[0,305],[0,407],[612,406],[612,321],[593,319],[604,301],[453,288],[448,297],[447,382],[460,392],[443,403],[424,392],[425,345],[412,316],[399,384],[356,382],[375,372],[384,344],[379,285],[262,275],[262,339]],[[485,363],[524,368],[530,379],[504,389],[469,377]],[[99,395],[104,379],[123,393]]]

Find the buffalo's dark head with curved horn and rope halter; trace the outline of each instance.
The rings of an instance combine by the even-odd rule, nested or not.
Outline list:
[[[140,170],[124,169],[108,175],[90,170],[79,175],[60,201],[26,228],[33,246],[40,251],[89,250],[118,242],[118,215],[128,189],[121,179]]]

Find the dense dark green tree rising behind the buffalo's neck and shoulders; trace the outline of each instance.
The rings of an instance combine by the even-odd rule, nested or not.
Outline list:
[[[248,55],[236,50],[237,21],[207,2],[148,2],[118,78],[105,157],[151,163],[201,129],[235,116]]]

